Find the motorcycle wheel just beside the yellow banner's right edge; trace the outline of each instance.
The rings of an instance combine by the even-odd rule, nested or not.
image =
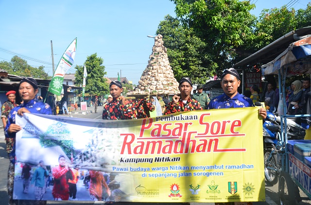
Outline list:
[[[278,179],[278,172],[272,169],[278,170],[278,163],[276,153],[273,153],[271,156],[271,152],[271,149],[266,149],[264,151],[264,177],[267,183],[275,185]]]

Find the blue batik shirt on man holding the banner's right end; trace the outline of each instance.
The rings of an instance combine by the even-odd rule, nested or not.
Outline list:
[[[224,109],[224,108],[247,108],[254,107],[251,98],[245,97],[242,94],[237,94],[230,98],[228,95],[219,95],[213,98],[209,104],[208,109]]]

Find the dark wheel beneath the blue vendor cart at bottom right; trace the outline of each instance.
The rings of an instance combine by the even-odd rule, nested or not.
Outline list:
[[[282,172],[278,180],[279,205],[295,205],[294,182],[288,173]]]

